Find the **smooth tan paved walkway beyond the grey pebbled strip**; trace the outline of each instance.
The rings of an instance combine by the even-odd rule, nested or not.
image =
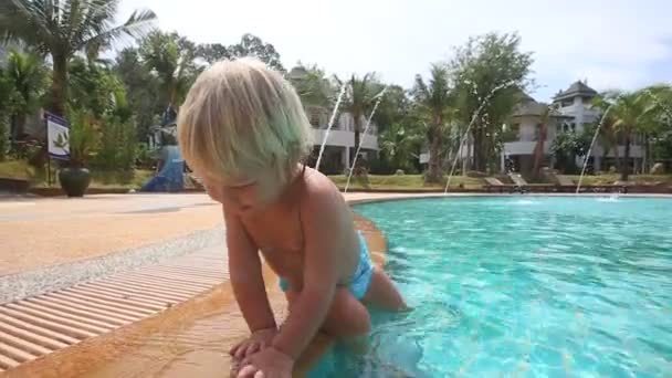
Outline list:
[[[397,196],[351,193],[347,199]],[[221,224],[220,204],[201,193],[0,200],[0,276],[137,249]]]

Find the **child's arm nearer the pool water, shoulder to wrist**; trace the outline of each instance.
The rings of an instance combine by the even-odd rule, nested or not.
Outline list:
[[[343,197],[332,188],[313,189],[301,209],[305,238],[303,290],[273,347],[294,360],[317,334],[332,305],[347,220]]]

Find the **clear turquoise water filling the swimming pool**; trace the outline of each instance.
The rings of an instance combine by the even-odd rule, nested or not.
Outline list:
[[[672,200],[453,198],[358,206],[416,308],[315,377],[671,377]]]

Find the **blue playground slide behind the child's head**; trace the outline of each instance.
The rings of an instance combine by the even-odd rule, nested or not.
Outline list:
[[[185,189],[185,159],[178,146],[162,146],[160,149],[162,167],[159,172],[147,181],[140,191],[175,192]]]

